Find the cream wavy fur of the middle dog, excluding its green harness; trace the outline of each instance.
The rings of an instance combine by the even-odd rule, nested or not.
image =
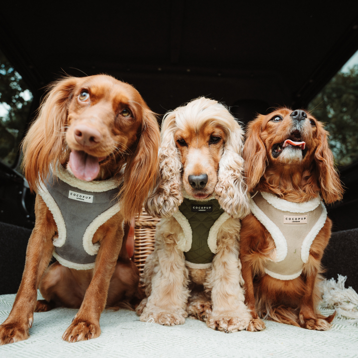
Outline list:
[[[141,321],[167,326],[189,315],[219,331],[243,330],[252,319],[244,304],[236,219],[249,211],[243,130],[224,105],[201,97],[168,112],[161,133],[160,174],[147,208],[164,218],[144,268],[148,299],[137,313]],[[228,216],[213,238],[212,264],[204,267],[185,261],[184,230],[173,216],[183,197],[203,203],[216,198]]]

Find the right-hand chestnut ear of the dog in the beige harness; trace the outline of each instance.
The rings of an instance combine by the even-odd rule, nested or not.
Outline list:
[[[327,204],[330,204],[341,200],[344,190],[335,170],[333,154],[329,148],[327,136],[328,132],[323,129],[322,123],[317,122],[319,144],[315,151],[314,160],[318,171],[317,178],[321,185],[322,198]]]

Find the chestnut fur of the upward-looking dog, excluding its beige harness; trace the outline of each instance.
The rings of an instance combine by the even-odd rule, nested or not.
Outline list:
[[[303,110],[279,108],[258,115],[248,126],[243,152],[249,190],[269,192],[296,203],[319,195],[326,203],[340,200],[343,189],[327,136],[323,124]],[[305,148],[283,146],[287,139],[305,142]],[[321,299],[317,284],[331,226],[327,218],[310,247],[301,275],[283,281],[264,270],[264,263],[275,252],[268,230],[253,214],[242,220],[240,259],[246,303],[253,316],[249,330],[265,327],[259,316],[307,329],[330,328],[334,315],[326,318],[317,311]]]

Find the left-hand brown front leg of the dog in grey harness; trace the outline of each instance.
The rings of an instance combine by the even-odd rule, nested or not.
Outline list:
[[[50,263],[56,224],[42,198],[35,203],[36,222],[26,250],[25,268],[11,312],[0,325],[0,345],[23,341],[29,337],[37,299],[37,287]]]

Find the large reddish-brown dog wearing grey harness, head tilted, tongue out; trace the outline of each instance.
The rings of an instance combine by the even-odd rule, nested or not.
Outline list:
[[[132,86],[98,75],[66,78],[51,87],[23,142],[24,173],[38,194],[36,222],[13,308],[0,326],[0,344],[28,338],[41,279],[46,301],[37,303],[37,311],[80,308],[63,335],[69,342],[98,337],[106,304],[117,306],[136,294],[139,274],[122,240],[124,223],[142,211],[156,175],[158,148],[155,115]],[[58,194],[58,185],[65,186],[65,195]],[[79,192],[71,193],[68,185]],[[66,197],[65,208],[74,205],[74,210],[64,225],[65,210],[59,207],[67,195],[76,198]],[[89,201],[78,204],[81,200]],[[96,216],[94,206],[86,207],[90,200],[108,207]],[[95,218],[83,244],[80,236],[81,251],[68,241],[83,220],[82,210]],[[54,249],[58,262],[44,275]],[[67,258],[80,251],[84,262],[69,263]]]

